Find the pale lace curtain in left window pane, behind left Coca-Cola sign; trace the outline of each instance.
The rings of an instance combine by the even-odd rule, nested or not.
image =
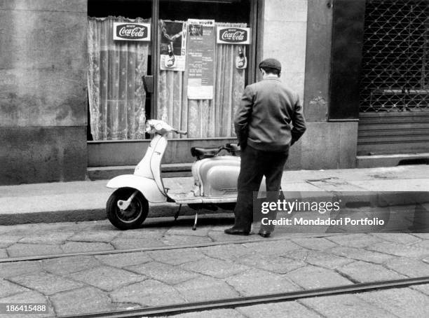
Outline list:
[[[137,18],[88,18],[88,92],[94,140],[144,139],[149,42],[114,41],[114,22]]]

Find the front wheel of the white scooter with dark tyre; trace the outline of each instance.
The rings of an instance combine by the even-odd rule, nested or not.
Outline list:
[[[149,202],[140,192],[137,192],[132,198],[130,205],[126,209],[118,207],[119,200],[128,200],[135,191],[133,188],[118,188],[107,200],[107,218],[116,228],[121,230],[138,228],[147,218]]]

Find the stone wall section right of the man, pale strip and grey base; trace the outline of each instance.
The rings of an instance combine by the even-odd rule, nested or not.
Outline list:
[[[280,60],[282,81],[299,92],[308,122],[291,148],[287,169],[355,167],[357,122],[328,121],[333,2],[263,1],[259,60]]]

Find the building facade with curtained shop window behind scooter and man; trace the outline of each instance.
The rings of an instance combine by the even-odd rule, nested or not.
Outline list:
[[[148,118],[189,132],[163,165],[189,170],[191,146],[234,141],[233,113],[266,57],[308,121],[287,169],[428,160],[428,2],[1,1],[0,184],[130,170]],[[142,39],[114,39],[130,34]]]

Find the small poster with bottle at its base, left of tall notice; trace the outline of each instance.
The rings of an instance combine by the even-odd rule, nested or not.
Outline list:
[[[159,22],[161,32],[160,67],[163,71],[184,71],[186,62],[186,22]]]

